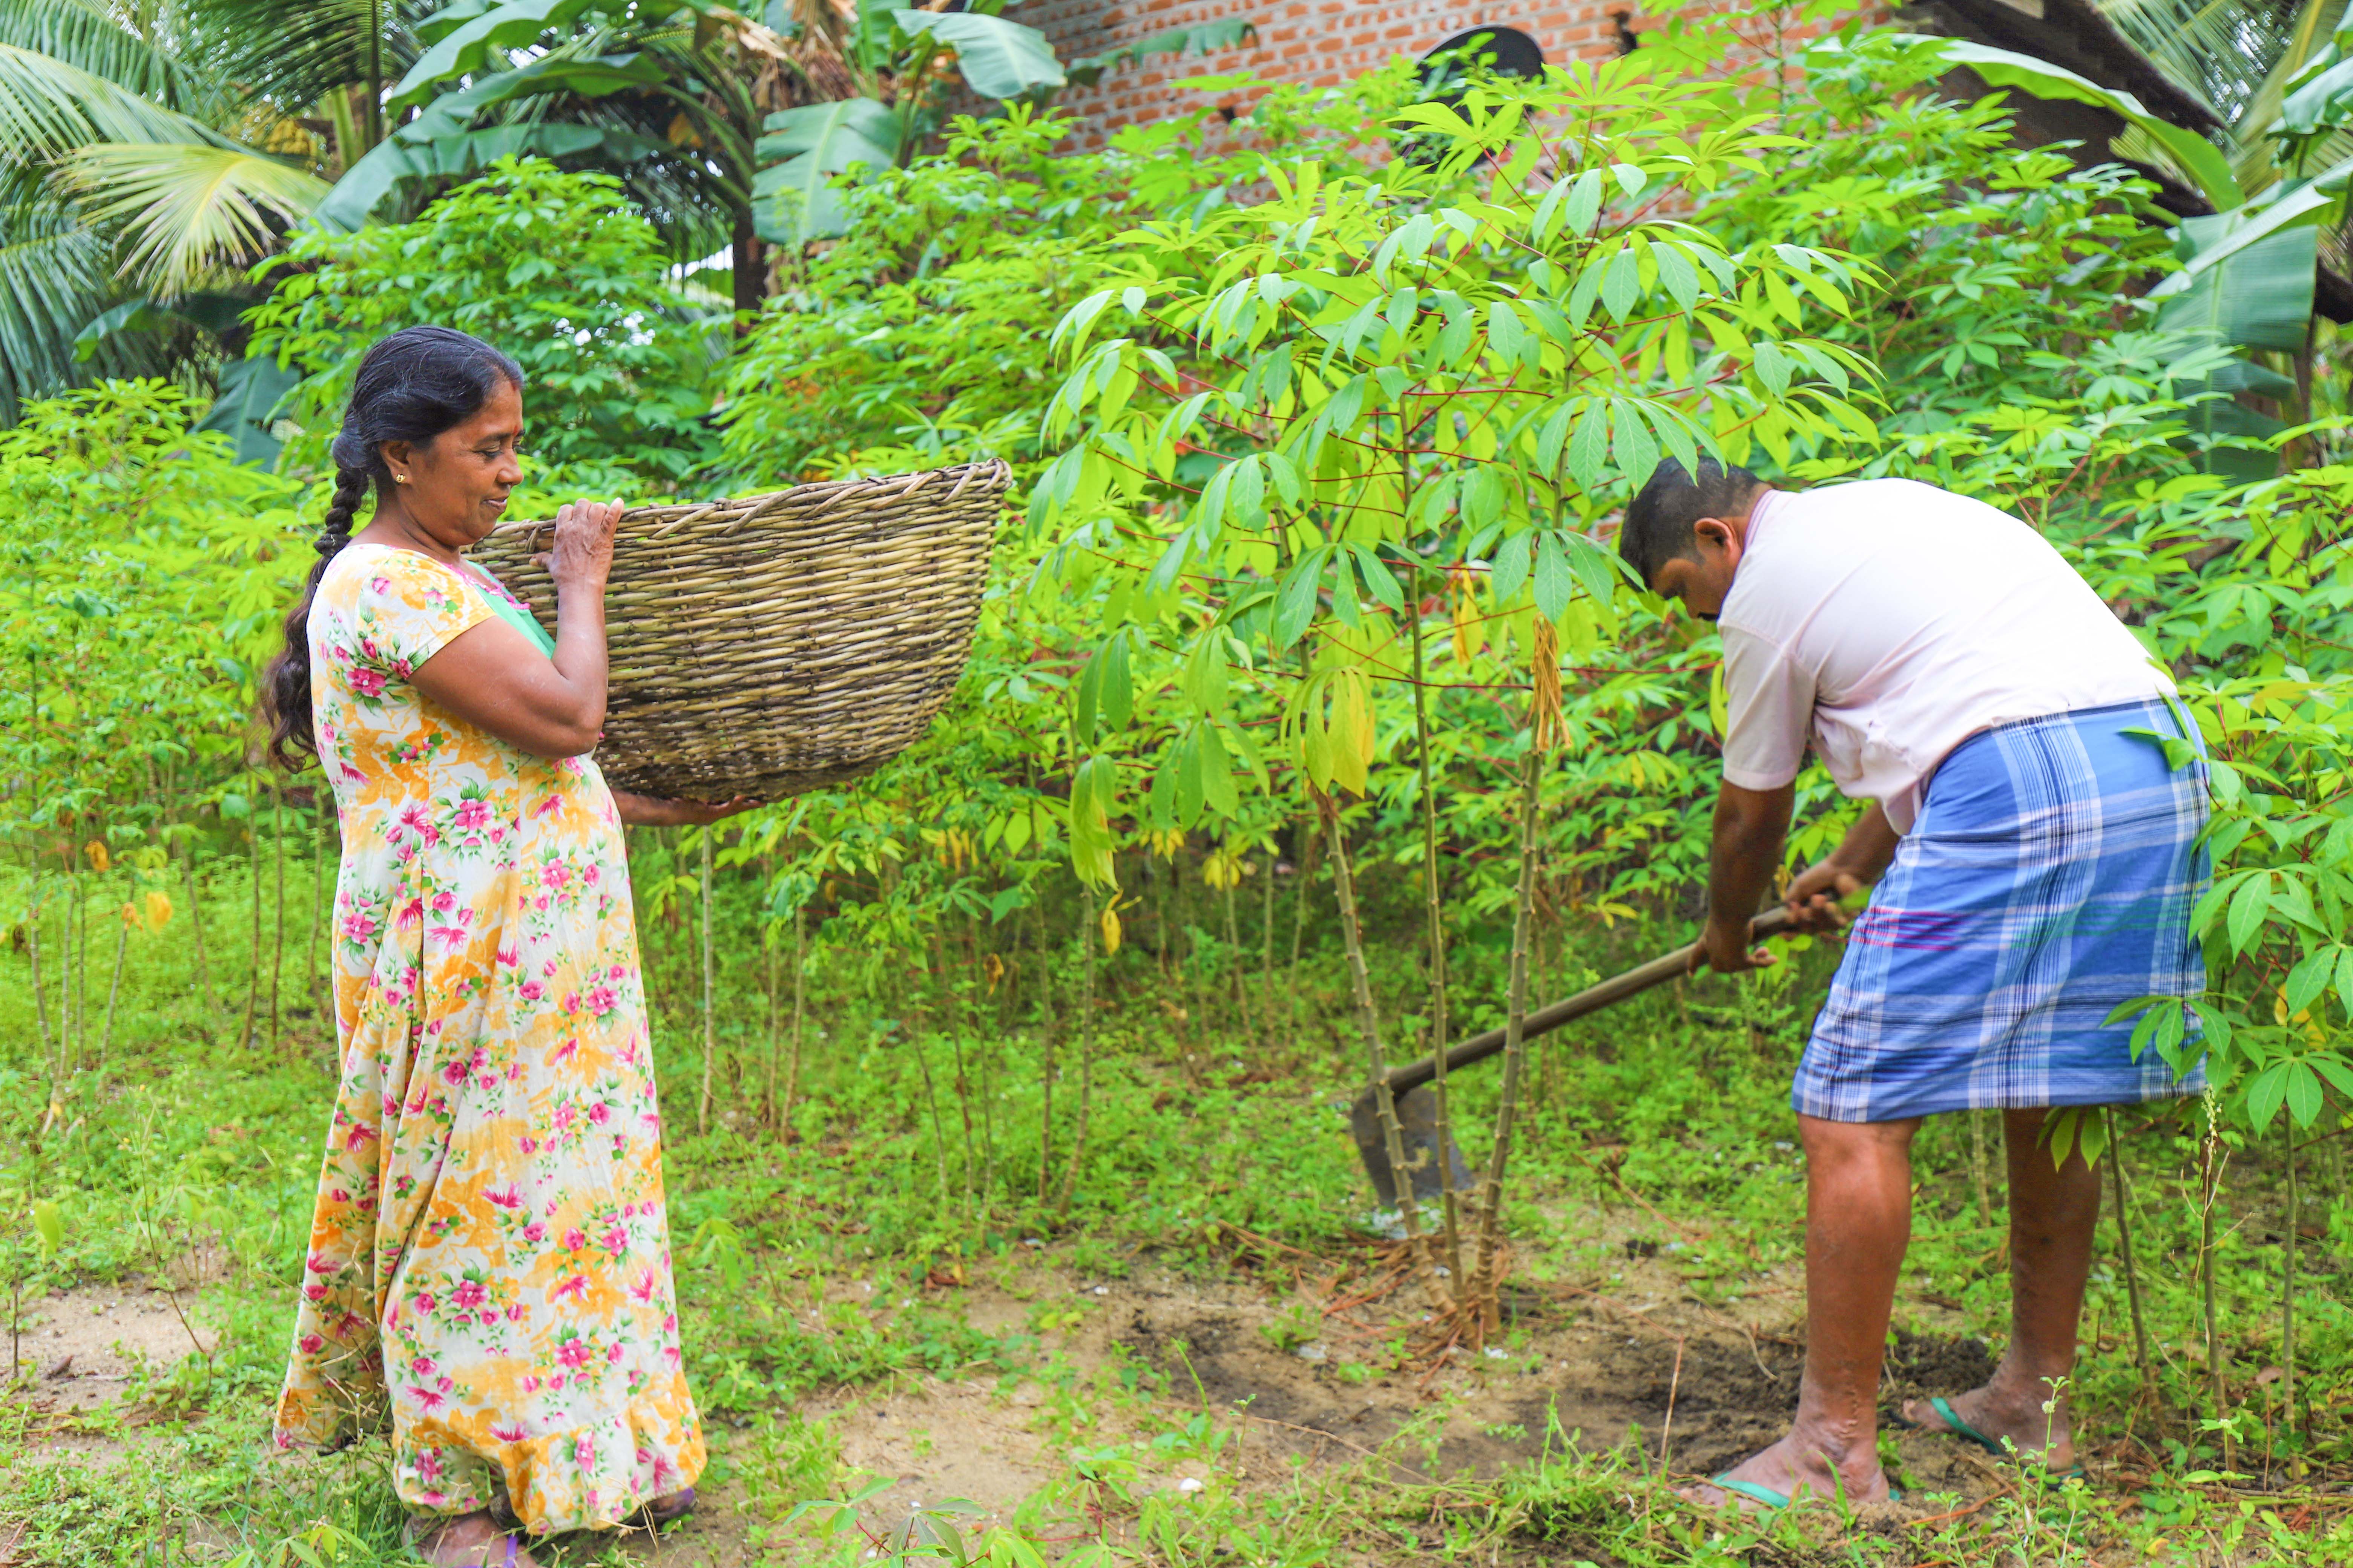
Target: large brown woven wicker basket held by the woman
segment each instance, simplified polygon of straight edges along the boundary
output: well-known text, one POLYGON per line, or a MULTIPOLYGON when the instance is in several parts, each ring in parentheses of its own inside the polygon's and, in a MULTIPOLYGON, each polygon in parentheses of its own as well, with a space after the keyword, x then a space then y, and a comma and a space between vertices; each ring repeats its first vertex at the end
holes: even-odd
MULTIPOLYGON (((1000 461, 624 512, 605 590, 619 790, 779 799, 868 773, 948 701, 981 611, 1012 470, 1000 461)), ((508 522, 473 559, 555 625, 508 522)))

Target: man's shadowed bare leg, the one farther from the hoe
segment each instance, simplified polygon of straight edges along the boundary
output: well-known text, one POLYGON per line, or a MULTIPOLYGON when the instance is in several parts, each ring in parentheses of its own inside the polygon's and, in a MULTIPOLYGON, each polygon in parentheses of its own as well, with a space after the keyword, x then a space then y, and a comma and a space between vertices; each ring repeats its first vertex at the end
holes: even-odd
MULTIPOLYGON (((2052 1166, 2040 1145, 2042 1110, 2002 1112, 2009 1145, 2009 1349, 1981 1389, 1948 1403, 1965 1422, 2021 1455, 2040 1455, 2052 1469, 2075 1465, 2075 1439, 2066 1422, 2066 1394, 2057 1408, 2054 1380, 2075 1371, 2075 1328, 2082 1321, 2082 1288, 2092 1274, 2092 1229, 2099 1222, 2099 1171, 2082 1152, 2052 1166)), ((1944 1418, 1925 1399, 1904 1406, 1904 1420, 1944 1429, 1944 1418)))

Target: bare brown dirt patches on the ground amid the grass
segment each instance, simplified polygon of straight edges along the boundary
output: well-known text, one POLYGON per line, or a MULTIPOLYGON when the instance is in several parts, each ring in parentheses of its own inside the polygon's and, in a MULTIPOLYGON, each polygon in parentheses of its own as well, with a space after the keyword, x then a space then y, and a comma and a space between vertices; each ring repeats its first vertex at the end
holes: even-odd
MULTIPOLYGON (((1365 1269, 1372 1274, 1374 1269, 1365 1269)), ((972 1326, 1005 1333, 1035 1324, 1040 1307, 1061 1324, 1040 1354, 1078 1373, 1148 1368, 1162 1387, 1139 1401, 1092 1406, 1085 1441, 1141 1434, 1151 1415, 1179 1420, 1212 1410, 1235 1429, 1219 1455, 1245 1488, 1285 1486, 1294 1467, 1374 1462, 1398 1479, 1461 1472, 1494 1474, 1537 1460, 1546 1443, 1612 1448, 1640 1434, 1652 1465, 1706 1476, 1779 1434, 1798 1387, 1802 1345, 1795 1298, 1762 1286, 1741 1314, 1680 1293, 1673 1274, 1628 1258, 1609 1295, 1572 1286, 1508 1293, 1506 1321, 1487 1352, 1457 1347, 1409 1371, 1379 1373, 1393 1298, 1346 1305, 1348 1284, 1308 1288, 1285 1302, 1249 1276, 1186 1279, 1139 1269, 1127 1279, 1082 1279, 1042 1265, 1019 1281, 974 1279, 929 1291, 960 1307, 972 1326), (1301 1307, 1301 1302, 1311 1302, 1301 1307), (1327 1307, 1318 1314, 1313 1305, 1327 1307), (1313 1338, 1301 1338, 1313 1326, 1313 1338), (1268 1333, 1273 1331, 1273 1333, 1268 1333), (1419 1429, 1407 1432, 1417 1425, 1419 1429), (1405 1441, 1395 1441, 1405 1432, 1405 1441)), ((1358 1276, 1353 1284, 1365 1284, 1358 1276)), ((1362 1291, 1358 1291, 1362 1295, 1362 1291)), ((202 1321, 193 1324, 198 1335, 202 1321)), ((169 1363, 188 1354, 191 1328, 162 1291, 92 1288, 42 1302, 24 1324, 24 1363, 38 1368, 33 1401, 71 1415, 118 1399, 134 1359, 169 1363)), ((1986 1347, 1939 1333, 1904 1335, 1889 1359, 1887 1399, 1955 1392, 1991 1371, 1986 1347)), ((864 1516, 889 1528, 920 1502, 965 1497, 991 1516, 1009 1514, 1059 1469, 1054 1389, 1038 1378, 899 1378, 802 1406, 840 1439, 842 1465, 892 1479, 864 1516)), ((1059 1420, 1068 1420, 1068 1401, 1059 1420)), ((713 1425, 713 1450, 741 1460, 746 1429, 713 1425)), ((132 1439, 59 1436, 56 1450, 111 1462, 132 1439)), ((1962 1446, 1906 1434, 1904 1465, 1915 1493, 1974 1500, 1998 1474, 1962 1446)), ((289 1460, 299 1462, 299 1460, 289 1460)), ((1146 1488, 1207 1476, 1202 1460, 1144 1476, 1146 1488)), ((736 1568, 758 1561, 753 1512, 741 1481, 704 1490, 704 1507, 661 1537, 628 1535, 631 1556, 678 1568, 736 1568)), ((0 1542, 5 1547, 5 1542, 0 1542)), ((609 1540, 574 1540, 555 1561, 602 1556, 609 1540)))

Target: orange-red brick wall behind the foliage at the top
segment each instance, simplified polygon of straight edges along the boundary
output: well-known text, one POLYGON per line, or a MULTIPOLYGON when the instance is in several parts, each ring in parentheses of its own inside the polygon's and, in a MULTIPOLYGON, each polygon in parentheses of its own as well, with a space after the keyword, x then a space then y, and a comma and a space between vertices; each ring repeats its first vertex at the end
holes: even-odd
MULTIPOLYGON (((1885 9, 1873 5, 1885 16, 1885 9)), ((1257 38, 1214 54, 1155 54, 1073 87, 1061 103, 1087 129, 1064 143, 1099 146, 1122 125, 1144 125, 1200 108, 1202 96, 1174 82, 1193 75, 1249 71, 1266 82, 1339 87, 1395 56, 1428 49, 1478 26, 1520 28, 1544 47, 1548 63, 1602 59, 1619 52, 1624 14, 1635 33, 1647 19, 1633 0, 1537 0, 1529 5, 1461 5, 1457 0, 1028 0, 1014 19, 1042 31, 1061 59, 1108 54, 1169 28, 1198 28, 1231 16, 1257 24, 1257 38)), ((1819 28, 1807 28, 1807 33, 1819 28)))

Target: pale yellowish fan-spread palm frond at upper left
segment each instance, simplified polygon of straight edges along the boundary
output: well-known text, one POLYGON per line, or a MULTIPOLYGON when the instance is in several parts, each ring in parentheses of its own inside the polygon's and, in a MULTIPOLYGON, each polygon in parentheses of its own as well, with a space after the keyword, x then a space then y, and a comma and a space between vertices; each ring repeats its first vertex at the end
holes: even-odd
POLYGON ((122 273, 153 294, 259 261, 327 195, 322 179, 275 158, 188 143, 92 143, 59 162, 59 179, 92 221, 120 226, 122 273))

